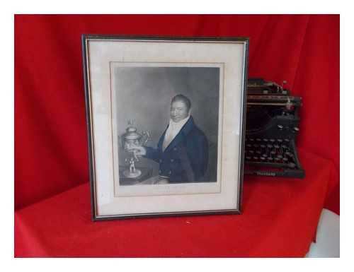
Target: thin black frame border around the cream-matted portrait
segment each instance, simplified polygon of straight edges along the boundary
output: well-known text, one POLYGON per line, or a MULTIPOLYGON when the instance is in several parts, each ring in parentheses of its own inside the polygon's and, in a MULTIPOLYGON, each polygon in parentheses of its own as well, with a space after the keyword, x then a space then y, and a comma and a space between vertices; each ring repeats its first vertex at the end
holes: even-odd
POLYGON ((249 38, 247 37, 160 37, 160 36, 120 36, 120 35, 82 35, 82 58, 84 71, 84 88, 86 99, 86 124, 87 124, 87 139, 88 139, 88 154, 89 154, 89 177, 91 188, 91 219, 96 220, 112 220, 126 218, 147 218, 158 216, 180 216, 180 215, 215 215, 215 214, 240 214, 242 210, 242 189, 243 189, 243 171, 244 171, 244 138, 246 131, 246 83, 248 71, 248 54, 249 54, 249 38), (167 211, 167 212, 149 212, 149 213, 122 213, 99 215, 98 203, 96 195, 96 164, 95 164, 95 139, 93 135, 93 110, 91 100, 91 82, 90 82, 90 66, 89 66, 89 42, 90 41, 137 41, 137 42, 230 42, 241 43, 244 50, 243 63, 241 64, 242 83, 241 83, 241 131, 239 143, 239 180, 236 191, 237 205, 235 208, 217 209, 217 210, 202 210, 202 211, 167 211))

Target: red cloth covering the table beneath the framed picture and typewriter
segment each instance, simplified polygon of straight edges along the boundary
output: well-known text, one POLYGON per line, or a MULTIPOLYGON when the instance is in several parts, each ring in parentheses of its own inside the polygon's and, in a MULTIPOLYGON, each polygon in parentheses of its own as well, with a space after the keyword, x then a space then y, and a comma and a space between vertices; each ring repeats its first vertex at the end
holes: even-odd
POLYGON ((305 179, 246 177, 242 215, 91 222, 89 184, 79 185, 15 212, 16 256, 304 256, 335 167, 300 158, 305 179))

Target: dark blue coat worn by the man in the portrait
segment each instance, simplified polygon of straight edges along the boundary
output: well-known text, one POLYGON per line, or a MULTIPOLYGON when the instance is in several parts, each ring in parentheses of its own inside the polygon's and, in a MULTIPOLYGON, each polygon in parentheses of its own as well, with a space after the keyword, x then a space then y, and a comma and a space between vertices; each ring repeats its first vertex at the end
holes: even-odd
POLYGON ((195 126, 193 118, 162 151, 167 129, 159 139, 157 148, 147 148, 146 158, 159 162, 159 175, 169 177, 169 182, 202 182, 208 164, 208 143, 205 134, 195 126))

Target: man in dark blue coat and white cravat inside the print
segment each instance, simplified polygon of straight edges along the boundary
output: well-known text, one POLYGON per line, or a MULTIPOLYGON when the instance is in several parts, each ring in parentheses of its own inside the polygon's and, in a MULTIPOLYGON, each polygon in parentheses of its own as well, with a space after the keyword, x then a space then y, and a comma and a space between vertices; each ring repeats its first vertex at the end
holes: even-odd
POLYGON ((171 100, 170 120, 157 148, 135 146, 133 152, 159 163, 159 184, 203 182, 209 158, 207 137, 191 116, 192 104, 185 95, 171 100))

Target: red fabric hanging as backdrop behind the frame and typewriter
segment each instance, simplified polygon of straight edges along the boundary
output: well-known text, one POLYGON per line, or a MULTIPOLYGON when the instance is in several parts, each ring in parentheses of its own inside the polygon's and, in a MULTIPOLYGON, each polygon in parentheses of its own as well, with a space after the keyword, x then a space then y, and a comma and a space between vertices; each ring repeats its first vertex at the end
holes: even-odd
POLYGON ((89 182, 81 34, 250 37, 249 76, 304 106, 298 145, 336 167, 339 213, 339 16, 15 16, 15 208, 89 182))

